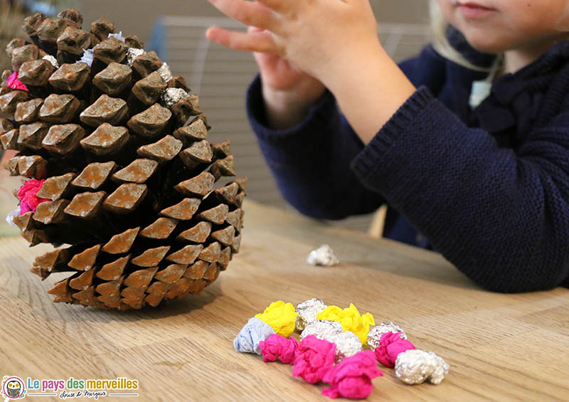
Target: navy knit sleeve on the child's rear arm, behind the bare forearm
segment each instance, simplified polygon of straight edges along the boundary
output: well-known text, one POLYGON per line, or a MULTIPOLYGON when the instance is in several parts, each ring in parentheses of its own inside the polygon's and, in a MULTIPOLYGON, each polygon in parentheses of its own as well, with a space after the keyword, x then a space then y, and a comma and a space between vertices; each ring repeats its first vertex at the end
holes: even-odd
MULTIPOLYGON (((418 57, 400 63, 400 68, 413 84, 427 85, 433 92, 445 80, 440 73, 445 61, 430 46, 418 57)), ((350 169, 363 143, 339 112, 331 92, 326 90, 295 127, 272 130, 266 125, 257 75, 247 92, 247 112, 277 186, 297 211, 313 218, 341 219, 381 206, 383 198, 363 186, 350 169)))

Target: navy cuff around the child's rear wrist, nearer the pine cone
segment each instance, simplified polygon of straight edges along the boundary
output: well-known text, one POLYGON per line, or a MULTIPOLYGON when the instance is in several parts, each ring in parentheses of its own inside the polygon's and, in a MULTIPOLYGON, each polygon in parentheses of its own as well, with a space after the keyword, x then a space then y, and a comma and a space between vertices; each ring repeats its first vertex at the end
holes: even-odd
POLYGON ((289 129, 271 129, 267 127, 265 100, 262 97, 261 78, 257 74, 247 90, 247 115, 257 137, 265 141, 279 142, 292 137, 305 137, 309 132, 323 132, 322 126, 329 124, 329 119, 336 108, 334 95, 326 89, 324 95, 313 105, 304 119, 289 129))

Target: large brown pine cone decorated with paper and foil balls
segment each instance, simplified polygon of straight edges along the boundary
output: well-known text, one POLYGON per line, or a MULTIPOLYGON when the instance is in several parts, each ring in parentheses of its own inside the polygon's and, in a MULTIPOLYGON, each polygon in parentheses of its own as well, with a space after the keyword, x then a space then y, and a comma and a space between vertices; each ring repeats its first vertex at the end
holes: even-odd
POLYGON ((0 148, 19 151, 11 175, 46 179, 37 196, 50 200, 14 222, 31 245, 56 247, 31 272, 71 273, 54 302, 101 308, 199 293, 239 251, 247 179, 216 185, 235 176, 230 142, 208 142, 184 78, 136 36, 110 36, 110 21, 82 23, 72 9, 36 14, 23 25, 32 43, 6 48, 28 91, 2 74, 0 148))

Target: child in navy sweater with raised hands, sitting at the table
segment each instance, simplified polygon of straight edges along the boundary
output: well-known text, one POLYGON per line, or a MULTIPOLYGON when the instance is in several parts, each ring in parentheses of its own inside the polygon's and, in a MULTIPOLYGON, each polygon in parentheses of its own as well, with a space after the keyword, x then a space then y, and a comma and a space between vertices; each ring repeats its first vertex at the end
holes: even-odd
POLYGON ((209 1, 255 27, 207 36, 257 52, 250 122, 299 211, 386 202, 384 236, 488 290, 569 287, 568 1, 438 0, 447 58, 427 46, 400 65, 368 0, 209 1))

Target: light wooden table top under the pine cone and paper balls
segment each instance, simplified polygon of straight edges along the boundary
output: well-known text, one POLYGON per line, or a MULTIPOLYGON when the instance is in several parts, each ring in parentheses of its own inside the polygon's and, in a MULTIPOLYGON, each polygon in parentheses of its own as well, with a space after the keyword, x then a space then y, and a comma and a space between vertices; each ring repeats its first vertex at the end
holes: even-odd
POLYGON ((569 290, 484 292, 436 253, 251 201, 245 211, 241 252, 211 287, 142 311, 53 304, 46 290, 57 278, 41 282, 28 272, 48 248, 0 239, 0 374, 128 377, 139 380, 139 397, 126 398, 136 401, 326 401, 321 385, 292 379, 292 366, 263 363, 232 344, 270 302, 320 297, 397 322, 418 349, 450 364, 439 386, 407 386, 385 369, 370 401, 569 399, 569 290), (340 265, 307 265, 321 243, 340 265))

